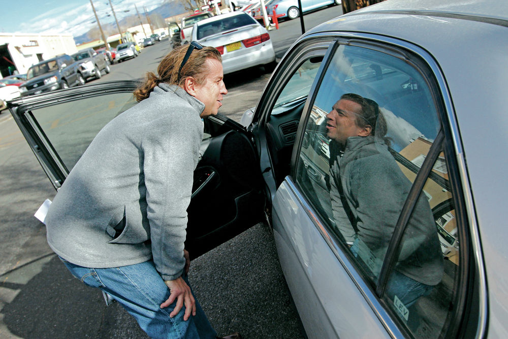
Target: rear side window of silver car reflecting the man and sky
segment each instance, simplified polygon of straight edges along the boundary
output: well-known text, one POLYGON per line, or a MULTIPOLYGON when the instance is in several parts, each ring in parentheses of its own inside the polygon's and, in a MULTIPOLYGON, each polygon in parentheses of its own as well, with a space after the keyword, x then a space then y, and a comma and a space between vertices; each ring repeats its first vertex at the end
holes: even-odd
POLYGON ((433 82, 414 65, 339 45, 316 88, 296 181, 395 322, 435 337, 453 312, 459 231, 433 82))

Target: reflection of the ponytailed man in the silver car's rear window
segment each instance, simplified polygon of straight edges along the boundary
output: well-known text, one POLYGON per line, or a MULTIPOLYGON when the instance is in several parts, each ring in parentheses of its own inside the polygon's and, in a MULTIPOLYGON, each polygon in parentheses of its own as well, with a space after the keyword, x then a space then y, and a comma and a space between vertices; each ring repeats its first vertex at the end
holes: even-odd
MULTIPOLYGON (((411 182, 397 166, 377 104, 345 94, 327 115, 330 186, 338 230, 377 278, 411 182)), ((428 295, 443 274, 432 211, 422 194, 409 220, 387 286, 406 307, 428 295)))

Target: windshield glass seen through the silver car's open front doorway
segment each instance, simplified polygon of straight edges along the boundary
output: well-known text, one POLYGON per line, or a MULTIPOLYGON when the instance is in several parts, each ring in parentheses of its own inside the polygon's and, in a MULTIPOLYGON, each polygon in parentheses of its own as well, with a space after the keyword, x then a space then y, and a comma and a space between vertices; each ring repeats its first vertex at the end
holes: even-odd
POLYGON ((322 60, 322 57, 311 57, 298 67, 278 95, 272 109, 272 114, 280 114, 285 111, 285 107, 307 99, 310 87, 314 82, 322 60))

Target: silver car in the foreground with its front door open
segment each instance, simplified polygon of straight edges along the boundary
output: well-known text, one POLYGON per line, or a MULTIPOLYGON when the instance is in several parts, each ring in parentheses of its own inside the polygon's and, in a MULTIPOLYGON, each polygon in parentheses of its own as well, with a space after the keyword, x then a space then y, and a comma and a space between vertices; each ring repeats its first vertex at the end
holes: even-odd
MULTIPOLYGON (((245 112, 247 128, 220 114, 204 120, 203 156, 188 208, 190 255, 214 248, 268 211, 309 338, 505 337, 507 23, 505 2, 390 0, 310 29, 285 53, 256 108, 245 112), (471 44, 481 52, 472 53, 471 44), (383 192, 398 180, 362 184, 382 164, 357 167, 356 179, 344 182, 355 187, 345 187, 344 197, 353 203, 358 196, 351 192, 378 194, 363 195, 372 208, 355 215, 331 205, 330 163, 343 160, 340 152, 316 152, 312 138, 305 138, 328 135, 321 122, 347 93, 377 103, 378 110, 372 102, 368 107, 386 120, 390 148, 379 135, 383 126, 367 121, 378 131, 371 139, 379 148, 366 155, 389 150, 384 154, 396 162, 394 177, 410 184, 408 192, 389 198, 383 192), (422 197, 443 260, 440 267, 427 267, 437 284, 406 305, 402 295, 387 291, 400 266, 426 267, 416 258, 406 261, 407 253, 428 241, 410 227, 422 197), (397 207, 384 208, 387 200, 397 200, 397 207), (345 241, 344 227, 354 221, 361 228, 379 214, 397 220, 375 225, 389 240, 381 251, 345 241)), ((136 104, 136 86, 96 84, 9 104, 55 188, 118 108, 136 104), (62 117, 67 124, 51 126, 62 117)), ((350 139, 356 138, 362 137, 350 139)), ((412 280, 425 278, 416 274, 412 280)))

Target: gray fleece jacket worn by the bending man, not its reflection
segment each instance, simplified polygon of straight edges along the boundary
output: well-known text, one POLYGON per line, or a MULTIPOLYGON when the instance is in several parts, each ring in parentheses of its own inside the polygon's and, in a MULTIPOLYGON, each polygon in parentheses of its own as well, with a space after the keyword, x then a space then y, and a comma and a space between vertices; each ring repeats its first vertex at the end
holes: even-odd
POLYGON ((153 258, 164 280, 183 272, 204 104, 175 85, 109 122, 56 194, 45 224, 51 249, 84 267, 153 258))

